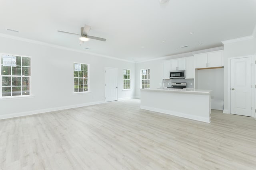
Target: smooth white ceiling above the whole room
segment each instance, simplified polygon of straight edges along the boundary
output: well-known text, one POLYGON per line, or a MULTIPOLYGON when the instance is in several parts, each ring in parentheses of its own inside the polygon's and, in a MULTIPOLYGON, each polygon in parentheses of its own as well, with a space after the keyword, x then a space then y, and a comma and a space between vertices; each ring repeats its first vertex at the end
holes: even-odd
POLYGON ((220 47, 221 41, 252 35, 256 25, 256 0, 0 0, 0 5, 0 33, 130 61, 220 47), (91 39, 80 46, 78 35, 57 32, 79 34, 84 24, 91 26, 89 35, 106 42, 91 39))

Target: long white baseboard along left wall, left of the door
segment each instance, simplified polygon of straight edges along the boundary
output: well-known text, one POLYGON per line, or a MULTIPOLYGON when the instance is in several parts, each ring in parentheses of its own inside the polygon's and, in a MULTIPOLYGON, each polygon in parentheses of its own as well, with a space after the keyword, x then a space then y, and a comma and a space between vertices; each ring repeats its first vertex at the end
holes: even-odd
POLYGON ((13 118, 13 117, 35 115, 35 114, 46 113, 46 112, 50 112, 50 111, 58 111, 58 110, 64 110, 64 109, 72 109, 72 108, 76 108, 76 107, 91 106, 91 105, 102 104, 102 103, 105 103, 105 102, 104 101, 89 102, 89 103, 84 103, 84 104, 53 107, 53 108, 49 108, 49 109, 40 109, 40 110, 33 110, 33 111, 24 111, 24 112, 20 112, 20 113, 5 114, 5 115, 0 115, 0 120, 1 119, 9 119, 9 118, 13 118))

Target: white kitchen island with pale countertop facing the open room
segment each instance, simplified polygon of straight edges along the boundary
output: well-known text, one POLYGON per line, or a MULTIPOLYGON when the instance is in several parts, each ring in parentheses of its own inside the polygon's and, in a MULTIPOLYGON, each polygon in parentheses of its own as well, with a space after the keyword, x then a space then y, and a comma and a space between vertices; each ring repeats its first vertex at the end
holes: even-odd
POLYGON ((198 89, 141 89, 140 108, 210 123, 211 92, 198 89))

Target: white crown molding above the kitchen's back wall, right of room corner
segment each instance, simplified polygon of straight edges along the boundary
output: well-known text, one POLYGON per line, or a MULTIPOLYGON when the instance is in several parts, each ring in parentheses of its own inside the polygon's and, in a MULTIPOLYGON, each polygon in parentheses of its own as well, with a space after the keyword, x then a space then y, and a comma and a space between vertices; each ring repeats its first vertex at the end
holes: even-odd
POLYGON ((195 55, 195 54, 208 53, 208 52, 218 51, 218 50, 223 50, 223 49, 224 49, 224 47, 221 46, 221 47, 215 47, 215 48, 210 48, 210 49, 192 51, 192 52, 188 52, 188 53, 181 53, 181 54, 169 55, 169 56, 165 56, 165 57, 158 57, 158 58, 154 58, 154 59, 138 61, 136 63, 144 63, 144 62, 155 61, 155 60, 168 60, 168 59, 177 59, 177 58, 182 58, 182 57, 190 57, 190 56, 195 55))

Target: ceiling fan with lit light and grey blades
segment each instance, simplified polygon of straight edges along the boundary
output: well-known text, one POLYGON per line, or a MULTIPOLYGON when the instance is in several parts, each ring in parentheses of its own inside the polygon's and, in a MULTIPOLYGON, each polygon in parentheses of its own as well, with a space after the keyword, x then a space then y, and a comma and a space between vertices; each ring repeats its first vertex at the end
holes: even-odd
POLYGON ((91 27, 89 25, 84 25, 84 27, 81 27, 81 33, 80 34, 70 33, 70 32, 60 31, 60 30, 58 30, 58 32, 80 35, 80 38, 79 38, 80 39, 80 44, 83 43, 84 41, 89 41, 89 39, 96 39, 96 40, 100 40, 100 41, 106 41, 105 38, 94 37, 94 36, 88 35, 90 29, 91 29, 91 27))

